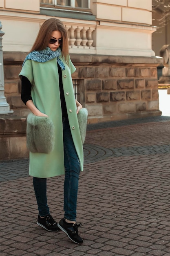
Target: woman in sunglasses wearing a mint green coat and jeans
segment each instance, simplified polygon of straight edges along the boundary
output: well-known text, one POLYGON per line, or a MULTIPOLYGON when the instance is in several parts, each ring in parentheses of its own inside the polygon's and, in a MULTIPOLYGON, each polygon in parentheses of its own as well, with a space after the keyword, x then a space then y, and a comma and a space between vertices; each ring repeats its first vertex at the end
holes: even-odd
POLYGON ((35 116, 49 117, 55 128, 50 153, 30 152, 29 174, 38 204, 37 224, 48 231, 62 229, 74 243, 82 243, 76 223, 79 173, 83 171, 83 146, 77 114, 82 105, 75 100, 71 74, 75 67, 68 55, 68 35, 63 23, 46 20, 19 74, 21 98, 35 116), (46 178, 65 174, 64 218, 57 224, 46 197, 46 178))

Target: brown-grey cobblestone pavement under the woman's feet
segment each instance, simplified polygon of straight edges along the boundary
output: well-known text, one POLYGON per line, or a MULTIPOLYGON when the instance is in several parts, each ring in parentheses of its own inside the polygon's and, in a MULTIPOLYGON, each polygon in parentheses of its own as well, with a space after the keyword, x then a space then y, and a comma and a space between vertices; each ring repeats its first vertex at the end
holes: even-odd
MULTIPOLYGON (((82 245, 36 224, 28 159, 0 162, 0 256, 170 256, 170 117, 88 125, 84 155, 82 245)), ((63 182, 48 179, 56 221, 63 217, 63 182)))

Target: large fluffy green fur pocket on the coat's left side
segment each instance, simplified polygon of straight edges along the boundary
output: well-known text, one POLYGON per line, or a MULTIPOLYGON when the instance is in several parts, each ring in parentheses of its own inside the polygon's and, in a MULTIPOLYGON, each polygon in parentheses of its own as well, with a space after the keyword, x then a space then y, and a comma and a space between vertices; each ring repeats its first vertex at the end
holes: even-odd
POLYGON ((27 117, 26 146, 35 153, 50 153, 54 146, 54 125, 49 117, 30 113, 27 117))

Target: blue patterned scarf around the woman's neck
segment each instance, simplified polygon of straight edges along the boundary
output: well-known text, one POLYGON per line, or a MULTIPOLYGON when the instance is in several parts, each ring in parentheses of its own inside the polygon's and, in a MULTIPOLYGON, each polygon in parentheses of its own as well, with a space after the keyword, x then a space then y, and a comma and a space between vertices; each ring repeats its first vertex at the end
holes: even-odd
POLYGON ((46 62, 46 61, 52 60, 53 58, 57 58, 57 63, 60 65, 62 70, 65 70, 64 63, 59 58, 59 56, 61 54, 62 54, 62 51, 61 51, 60 47, 57 48, 56 51, 52 51, 49 47, 46 47, 46 49, 44 49, 42 51, 32 51, 26 56, 26 58, 22 64, 22 67, 26 60, 33 60, 33 61, 37 61, 37 62, 46 62))

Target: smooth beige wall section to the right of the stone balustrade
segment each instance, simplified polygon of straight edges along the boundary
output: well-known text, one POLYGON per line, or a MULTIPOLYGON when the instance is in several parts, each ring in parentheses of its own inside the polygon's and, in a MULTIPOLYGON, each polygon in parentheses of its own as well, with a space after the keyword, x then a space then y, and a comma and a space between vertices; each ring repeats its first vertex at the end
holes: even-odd
POLYGON ((96 54, 155 56, 152 51, 152 0, 91 0, 99 24, 96 54))

